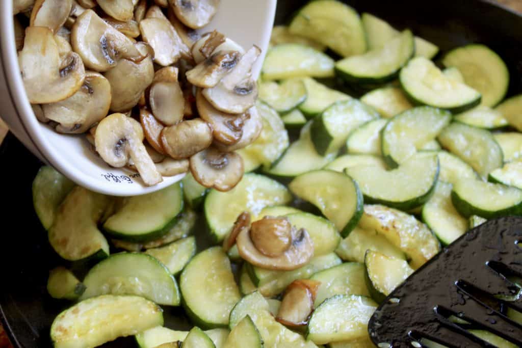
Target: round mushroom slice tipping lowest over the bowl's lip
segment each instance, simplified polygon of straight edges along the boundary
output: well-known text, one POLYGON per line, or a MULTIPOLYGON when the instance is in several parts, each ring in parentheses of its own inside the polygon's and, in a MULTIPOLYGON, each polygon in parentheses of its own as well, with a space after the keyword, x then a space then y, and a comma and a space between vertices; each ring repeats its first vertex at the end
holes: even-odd
POLYGON ((244 167, 241 155, 235 152, 221 152, 210 147, 196 153, 190 160, 191 173, 196 181, 218 191, 230 191, 243 177, 244 167))

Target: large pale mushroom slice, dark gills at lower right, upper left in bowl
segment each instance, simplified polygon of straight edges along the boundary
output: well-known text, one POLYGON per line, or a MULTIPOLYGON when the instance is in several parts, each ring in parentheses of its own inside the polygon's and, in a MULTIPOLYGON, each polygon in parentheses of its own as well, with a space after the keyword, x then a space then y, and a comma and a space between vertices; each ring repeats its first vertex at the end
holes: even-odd
POLYGON ((112 69, 121 58, 139 63, 148 56, 141 54, 131 39, 105 23, 93 10, 86 10, 76 20, 71 44, 85 65, 98 72, 112 69))

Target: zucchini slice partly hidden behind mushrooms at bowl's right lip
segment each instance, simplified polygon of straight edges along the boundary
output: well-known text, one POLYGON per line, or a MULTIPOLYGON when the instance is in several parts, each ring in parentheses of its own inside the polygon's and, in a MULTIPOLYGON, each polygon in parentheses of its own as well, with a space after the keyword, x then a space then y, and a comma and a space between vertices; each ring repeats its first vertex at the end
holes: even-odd
POLYGON ((290 140, 279 114, 264 103, 257 103, 257 111, 263 122, 259 137, 244 149, 238 150, 245 163, 245 172, 263 165, 268 169, 288 148, 290 140), (248 165, 248 163, 253 163, 248 165))

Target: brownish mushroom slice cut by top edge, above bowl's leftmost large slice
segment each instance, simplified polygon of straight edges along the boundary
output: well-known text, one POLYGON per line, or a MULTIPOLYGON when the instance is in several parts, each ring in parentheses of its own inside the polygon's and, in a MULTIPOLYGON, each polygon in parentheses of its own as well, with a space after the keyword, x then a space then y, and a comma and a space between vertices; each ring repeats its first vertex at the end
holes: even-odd
POLYGON ((73 0, 36 0, 31 11, 31 27, 48 27, 57 32, 69 17, 73 0))

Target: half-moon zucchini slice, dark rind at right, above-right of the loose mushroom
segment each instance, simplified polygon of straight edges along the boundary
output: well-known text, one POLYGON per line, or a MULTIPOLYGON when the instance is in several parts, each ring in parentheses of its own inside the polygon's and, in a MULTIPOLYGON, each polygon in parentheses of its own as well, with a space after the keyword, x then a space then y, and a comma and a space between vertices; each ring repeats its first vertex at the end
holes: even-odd
POLYGON ((361 218, 361 191, 345 174, 329 170, 309 172, 293 179, 288 188, 319 208, 343 236, 348 235, 361 218))

